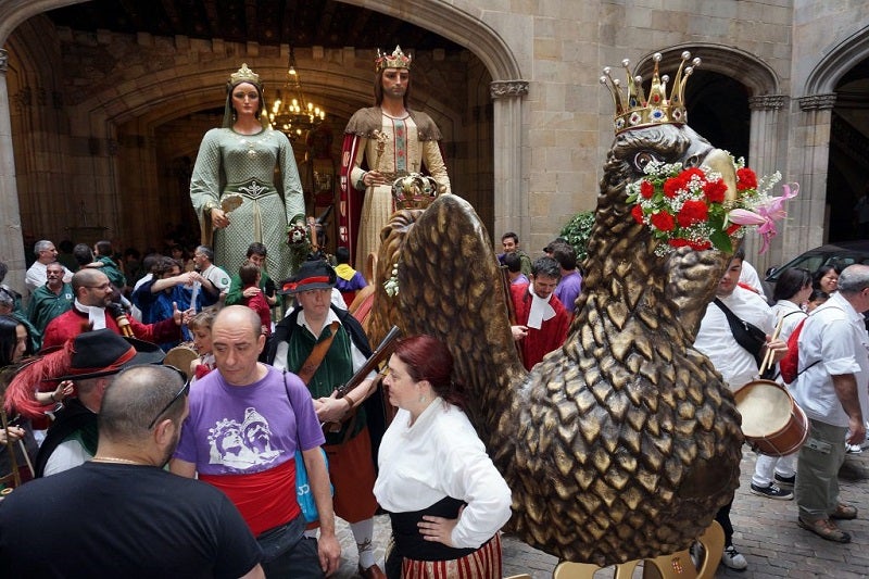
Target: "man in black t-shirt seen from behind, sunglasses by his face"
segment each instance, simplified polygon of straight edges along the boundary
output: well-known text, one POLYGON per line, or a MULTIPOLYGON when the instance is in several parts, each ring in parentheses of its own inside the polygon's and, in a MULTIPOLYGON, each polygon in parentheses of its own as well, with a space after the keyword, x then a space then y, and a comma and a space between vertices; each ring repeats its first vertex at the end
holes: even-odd
POLYGON ((0 502, 8 577, 262 578, 262 552, 221 491, 163 470, 189 382, 134 366, 103 397, 97 454, 0 502))

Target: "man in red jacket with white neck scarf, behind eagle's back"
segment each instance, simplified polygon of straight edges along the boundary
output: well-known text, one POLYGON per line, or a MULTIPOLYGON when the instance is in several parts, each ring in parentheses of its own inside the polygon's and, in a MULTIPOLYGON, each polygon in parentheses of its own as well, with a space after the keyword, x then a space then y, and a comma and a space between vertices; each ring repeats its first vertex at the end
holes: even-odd
POLYGON ((531 282, 511 285, 516 326, 513 339, 519 342, 522 364, 531 369, 543 356, 567 338, 570 314, 553 294, 562 268, 552 257, 540 257, 531 265, 531 282))

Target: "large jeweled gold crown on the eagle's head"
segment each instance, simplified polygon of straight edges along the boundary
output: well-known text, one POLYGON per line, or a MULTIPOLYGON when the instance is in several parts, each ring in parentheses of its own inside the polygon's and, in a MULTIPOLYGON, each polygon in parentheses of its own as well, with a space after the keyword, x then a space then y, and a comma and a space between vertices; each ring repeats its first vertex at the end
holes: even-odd
POLYGON ((608 66, 604 68, 601 84, 609 89, 616 104, 616 115, 613 121, 616 135, 631 128, 663 124, 682 125, 688 122, 684 103, 685 84, 694 68, 700 66, 700 59, 692 61, 690 52, 682 52, 682 62, 673 77, 669 99, 667 98, 667 83, 670 78, 667 75, 658 75, 660 52, 653 54, 652 60, 655 62, 655 68, 652 73, 648 98, 643 92, 643 78, 639 75, 631 76, 629 60, 621 61, 621 65, 628 73, 627 91, 622 91, 621 83, 610 76, 610 68, 608 66), (689 61, 691 66, 685 66, 689 61))

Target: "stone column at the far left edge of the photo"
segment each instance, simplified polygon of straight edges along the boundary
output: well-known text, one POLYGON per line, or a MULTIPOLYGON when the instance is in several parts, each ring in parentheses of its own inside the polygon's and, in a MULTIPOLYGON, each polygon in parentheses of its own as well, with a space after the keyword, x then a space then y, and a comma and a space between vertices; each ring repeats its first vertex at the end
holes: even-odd
POLYGON ((24 247, 21 231, 15 156, 12 153, 12 121, 9 112, 9 52, 0 48, 0 261, 9 266, 3 284, 24 291, 24 247))

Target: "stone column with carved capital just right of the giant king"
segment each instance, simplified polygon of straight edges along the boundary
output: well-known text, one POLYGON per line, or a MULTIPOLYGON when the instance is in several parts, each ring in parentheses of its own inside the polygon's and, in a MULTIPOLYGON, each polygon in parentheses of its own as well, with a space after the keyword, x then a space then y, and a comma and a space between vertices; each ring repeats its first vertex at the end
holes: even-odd
POLYGON ((501 235, 516 230, 520 243, 531 236, 527 184, 522 178, 522 97, 527 80, 495 80, 489 86, 494 101, 494 231, 495 249, 501 235), (519 224, 519 227, 516 227, 519 224))

